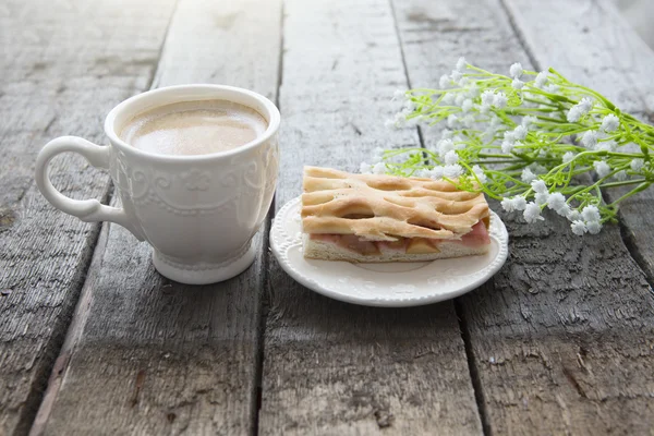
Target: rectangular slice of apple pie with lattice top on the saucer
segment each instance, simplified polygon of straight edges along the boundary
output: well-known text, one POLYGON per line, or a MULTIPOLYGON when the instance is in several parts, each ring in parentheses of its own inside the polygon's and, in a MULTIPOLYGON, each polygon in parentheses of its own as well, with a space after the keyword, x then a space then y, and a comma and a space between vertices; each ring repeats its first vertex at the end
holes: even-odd
POLYGON ((304 256, 325 261, 416 262, 488 251, 483 193, 421 178, 304 168, 304 256))

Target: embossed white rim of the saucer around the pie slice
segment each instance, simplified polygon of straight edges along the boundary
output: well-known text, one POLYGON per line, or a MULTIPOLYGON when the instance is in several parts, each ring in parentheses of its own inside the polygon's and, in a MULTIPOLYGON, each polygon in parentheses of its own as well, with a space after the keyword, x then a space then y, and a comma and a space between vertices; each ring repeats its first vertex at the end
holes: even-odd
MULTIPOLYGON (((375 295, 374 291, 371 291, 370 296, 362 296, 361 294, 355 294, 354 292, 340 292, 335 289, 334 286, 329 286, 329 283, 319 283, 315 280, 315 278, 311 277, 312 269, 315 269, 315 266, 311 266, 308 263, 303 265, 302 257, 300 261, 292 261, 289 258, 289 251, 293 247, 302 246, 302 241, 299 235, 289 235, 287 231, 283 229, 284 222, 291 218, 291 213, 293 208, 300 207, 301 196, 294 197, 287 202, 276 214, 272 226, 270 227, 270 249, 272 254, 277 258, 277 262, 281 266, 281 268, 291 276, 295 281, 305 288, 311 289, 314 292, 317 292, 322 295, 328 296, 334 300, 339 300, 347 303, 360 304, 366 306, 376 306, 376 307, 411 307, 411 306, 420 306, 426 304, 438 303, 446 300, 451 300, 457 296, 460 296, 464 293, 468 293, 483 283, 485 283, 489 278, 492 278, 506 263, 508 258, 508 232, 507 229, 501 221, 501 219, 495 214, 493 210, 491 211, 491 231, 489 235, 492 239, 492 243, 497 245, 495 256, 488 261, 488 264, 483 268, 473 270, 472 274, 480 275, 474 279, 469 280, 461 286, 450 286, 451 289, 448 289, 443 292, 432 292, 427 294, 414 295, 414 296, 405 296, 405 298, 389 298, 389 296, 379 296, 375 295), (286 240, 283 240, 286 239, 286 240), (482 271, 484 274, 482 274, 482 271)), ((299 216, 299 215, 298 215, 299 216)), ((298 226, 300 226, 298 220, 298 226)), ((301 228, 301 227, 300 227, 301 228)), ((425 262, 424 266, 433 266, 432 264, 438 263, 436 265, 443 265, 444 262, 465 262, 469 259, 469 263, 479 261, 479 256, 470 256, 470 257, 457 257, 453 259, 436 259, 431 262, 425 262)), ((358 268, 358 264, 351 264, 348 262, 331 262, 331 261, 316 261, 312 259, 312 264, 320 264, 327 263, 326 265, 335 265, 342 264, 343 268, 354 270, 364 270, 364 268, 358 268)), ((412 265, 419 263, 411 263, 412 265)), ((422 269, 422 267, 420 268, 422 269)), ((412 271, 407 271, 412 272, 412 271)), ((391 274, 391 272, 389 272, 391 274)), ((402 274, 402 272, 399 272, 402 274)), ((365 272, 361 272, 360 276, 366 275, 365 272)), ((314 275, 315 276, 315 275, 314 275)), ((319 276, 319 275, 317 275, 319 276)), ((459 276, 461 277, 461 276, 459 276)), ((447 277, 446 277, 447 279, 447 277)), ((412 286, 408 283, 408 286, 412 286)))

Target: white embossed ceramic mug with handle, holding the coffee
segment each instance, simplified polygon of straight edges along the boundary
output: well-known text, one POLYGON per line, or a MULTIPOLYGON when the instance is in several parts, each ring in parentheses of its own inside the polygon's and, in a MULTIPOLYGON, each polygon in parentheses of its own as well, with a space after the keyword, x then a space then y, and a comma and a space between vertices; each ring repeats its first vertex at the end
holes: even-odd
POLYGON ((181 85, 149 90, 118 105, 105 121, 110 145, 76 136, 49 142, 36 162, 36 183, 57 208, 83 221, 111 221, 153 247, 155 267, 183 283, 227 280, 255 257, 252 237, 262 226, 275 193, 279 165, 279 110, 247 89, 181 85), (219 99, 247 106, 268 128, 238 148, 197 156, 158 155, 132 147, 117 134, 134 116, 164 105, 219 99), (109 169, 122 207, 97 199, 72 199, 52 186, 50 160, 78 153, 94 167, 109 169))

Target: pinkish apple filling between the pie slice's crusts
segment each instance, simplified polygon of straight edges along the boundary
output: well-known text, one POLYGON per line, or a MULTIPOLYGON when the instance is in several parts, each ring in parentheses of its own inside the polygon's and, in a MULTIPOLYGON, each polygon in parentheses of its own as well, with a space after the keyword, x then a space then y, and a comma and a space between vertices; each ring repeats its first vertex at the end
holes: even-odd
POLYGON ((366 241, 355 234, 311 233, 315 241, 328 242, 362 255, 378 255, 384 253, 432 254, 439 253, 441 242, 451 242, 476 249, 491 243, 488 229, 483 220, 472 227, 472 230, 461 239, 428 239, 428 238, 401 238, 397 241, 366 241))

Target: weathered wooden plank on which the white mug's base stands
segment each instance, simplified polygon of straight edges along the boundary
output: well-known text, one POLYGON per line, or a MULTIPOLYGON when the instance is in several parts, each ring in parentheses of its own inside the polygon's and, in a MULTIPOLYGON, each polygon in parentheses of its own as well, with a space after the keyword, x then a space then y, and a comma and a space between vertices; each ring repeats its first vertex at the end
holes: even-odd
MULTIPOLYGON (((181 0, 156 84, 218 82, 275 98, 280 23, 279 1, 181 0)), ((159 276, 147 244, 106 228, 33 433, 252 433, 267 229, 246 272, 191 287, 159 276)))

